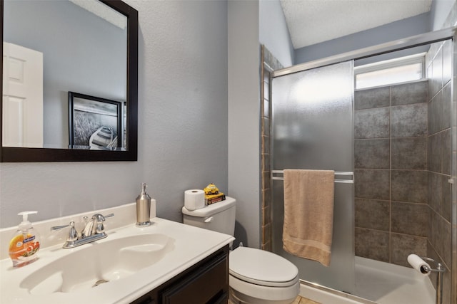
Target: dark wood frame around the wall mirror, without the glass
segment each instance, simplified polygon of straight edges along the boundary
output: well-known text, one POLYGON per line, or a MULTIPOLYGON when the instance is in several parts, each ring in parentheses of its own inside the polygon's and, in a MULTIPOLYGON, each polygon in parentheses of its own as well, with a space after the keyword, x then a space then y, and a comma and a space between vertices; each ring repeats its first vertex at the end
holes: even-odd
MULTIPOLYGON (((99 0, 127 17, 127 150, 72 150, 26 147, 3 147, 0 151, 0 162, 109 162, 136 161, 138 159, 138 11, 120 0, 99 0)), ((1 31, 3 41, 4 0, 0 0, 1 31)), ((3 58, 3 47, 0 48, 3 58)), ((3 75, 3 60, 0 61, 3 75)), ((3 81, 0 83, 3 92, 3 81)), ((3 98, 2 98, 3 102, 3 98)), ((2 110, 0 106, 0 130, 2 127, 2 110)), ((0 143, 3 142, 0 131, 0 143)))

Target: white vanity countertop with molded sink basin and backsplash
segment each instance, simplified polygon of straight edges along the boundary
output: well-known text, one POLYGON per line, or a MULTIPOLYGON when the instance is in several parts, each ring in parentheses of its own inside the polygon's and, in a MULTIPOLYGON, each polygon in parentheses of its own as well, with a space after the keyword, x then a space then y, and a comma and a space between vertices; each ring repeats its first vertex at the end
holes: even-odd
MULTIPOLYGON (((131 303, 233 241, 232 236, 154 217, 137 227, 136 204, 34 223, 42 247, 34 263, 13 267, 0 251, 0 303, 131 303), (51 231, 94 213, 111 214, 105 239, 64 249, 68 231, 51 231), (96 283, 100 280, 108 283, 96 283)), ((0 248, 17 227, 0 229, 0 248)))

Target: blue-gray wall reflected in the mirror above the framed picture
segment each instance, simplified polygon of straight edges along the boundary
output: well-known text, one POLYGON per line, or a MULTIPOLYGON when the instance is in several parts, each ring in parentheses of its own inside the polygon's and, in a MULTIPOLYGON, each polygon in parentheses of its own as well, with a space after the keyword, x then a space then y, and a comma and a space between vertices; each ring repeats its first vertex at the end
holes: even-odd
POLYGON ((4 4, 4 41, 44 54, 44 145, 66 148, 68 91, 126 100, 126 30, 70 1, 4 4))

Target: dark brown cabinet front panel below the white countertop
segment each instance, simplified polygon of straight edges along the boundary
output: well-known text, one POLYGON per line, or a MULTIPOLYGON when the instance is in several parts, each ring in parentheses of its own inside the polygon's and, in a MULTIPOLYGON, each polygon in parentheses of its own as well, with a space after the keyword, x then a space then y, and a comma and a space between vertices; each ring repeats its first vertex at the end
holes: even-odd
POLYGON ((229 285, 229 259, 216 256, 196 271, 174 283, 161 294, 164 304, 226 303, 229 285))

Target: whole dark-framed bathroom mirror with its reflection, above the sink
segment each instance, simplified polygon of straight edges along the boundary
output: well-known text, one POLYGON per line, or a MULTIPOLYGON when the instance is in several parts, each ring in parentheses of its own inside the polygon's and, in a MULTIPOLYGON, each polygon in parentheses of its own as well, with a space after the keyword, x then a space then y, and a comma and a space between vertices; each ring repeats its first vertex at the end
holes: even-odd
POLYGON ((0 0, 0 10, 0 161, 136 160, 138 11, 120 0, 0 0), (91 106, 74 108, 74 96, 91 106), (106 100, 116 105, 115 144, 74 145, 77 130, 108 129, 106 100))

